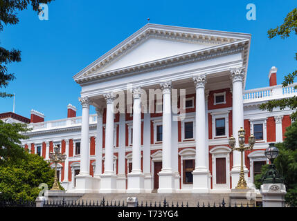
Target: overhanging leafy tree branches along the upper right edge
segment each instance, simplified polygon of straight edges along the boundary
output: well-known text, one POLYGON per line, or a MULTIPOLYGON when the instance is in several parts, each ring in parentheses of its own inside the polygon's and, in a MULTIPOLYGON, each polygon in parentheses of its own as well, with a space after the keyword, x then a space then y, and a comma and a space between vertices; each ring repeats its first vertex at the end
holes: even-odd
MULTIPOLYGON (((297 35, 297 8, 294 8, 287 17, 285 17, 284 23, 280 27, 271 28, 268 30, 267 34, 269 39, 272 39, 273 37, 280 36, 282 39, 286 39, 291 35, 291 32, 295 32, 295 35, 297 35)), ((295 59, 297 60, 297 53, 295 56, 295 59)), ((287 76, 285 76, 284 81, 282 82, 282 87, 286 87, 289 84, 294 83, 294 78, 297 76, 297 70, 294 70, 292 73, 289 73, 287 76)), ((297 89, 297 86, 295 86, 297 89)), ((285 108, 290 108, 291 110, 294 110, 294 112, 291 114, 291 119, 296 120, 297 119, 297 97, 289 97, 284 99, 278 99, 278 100, 271 100, 267 103, 260 105, 260 110, 262 111, 273 111, 273 108, 279 107, 280 110, 283 110, 285 108)))

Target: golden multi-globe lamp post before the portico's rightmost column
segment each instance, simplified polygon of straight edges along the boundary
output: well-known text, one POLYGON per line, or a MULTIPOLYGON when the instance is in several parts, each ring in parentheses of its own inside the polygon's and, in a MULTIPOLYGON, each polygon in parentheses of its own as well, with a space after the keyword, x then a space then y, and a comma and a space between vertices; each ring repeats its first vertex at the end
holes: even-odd
POLYGON ((236 140, 233 137, 233 135, 231 135, 231 137, 229 138, 229 145, 231 146, 232 151, 240 151, 240 153, 241 153, 240 180, 238 180, 238 183, 237 183, 237 186, 235 187, 235 189, 246 189, 246 181, 244 180, 243 153, 246 150, 252 150, 253 145, 255 144, 255 137, 253 135, 251 135, 249 137, 249 146, 245 146, 244 145, 244 140, 245 140, 244 135, 245 135, 245 131, 241 127, 240 130, 238 131, 238 142, 240 144, 239 147, 235 147, 236 140))

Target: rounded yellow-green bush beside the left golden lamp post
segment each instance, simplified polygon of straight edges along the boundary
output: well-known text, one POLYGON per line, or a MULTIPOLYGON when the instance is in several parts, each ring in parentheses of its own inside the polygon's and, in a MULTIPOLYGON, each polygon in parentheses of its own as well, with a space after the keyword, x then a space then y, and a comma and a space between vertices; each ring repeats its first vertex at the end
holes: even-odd
POLYGON ((53 186, 55 171, 42 157, 24 152, 24 159, 17 164, 8 160, 0 166, 1 200, 33 201, 42 189, 39 184, 53 186))

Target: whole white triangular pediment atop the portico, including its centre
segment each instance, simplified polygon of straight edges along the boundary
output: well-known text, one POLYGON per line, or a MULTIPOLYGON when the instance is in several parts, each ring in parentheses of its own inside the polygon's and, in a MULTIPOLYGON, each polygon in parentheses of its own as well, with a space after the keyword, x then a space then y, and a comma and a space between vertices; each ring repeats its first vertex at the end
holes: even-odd
POLYGON ((224 46, 249 38, 250 35, 241 33, 147 24, 81 70, 73 79, 78 81, 100 73, 123 70, 123 68, 131 67, 134 70, 137 66, 144 64, 150 66, 154 61, 163 62, 166 58, 224 46))

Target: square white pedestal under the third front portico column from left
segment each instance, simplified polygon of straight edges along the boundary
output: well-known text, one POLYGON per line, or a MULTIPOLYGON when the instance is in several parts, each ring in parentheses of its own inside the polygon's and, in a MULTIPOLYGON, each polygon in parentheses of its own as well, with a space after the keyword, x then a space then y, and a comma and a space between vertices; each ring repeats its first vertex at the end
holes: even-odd
POLYGON ((144 175, 141 172, 128 173, 128 188, 127 193, 144 193, 144 175))

